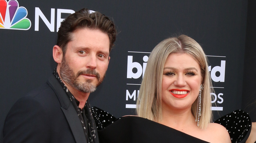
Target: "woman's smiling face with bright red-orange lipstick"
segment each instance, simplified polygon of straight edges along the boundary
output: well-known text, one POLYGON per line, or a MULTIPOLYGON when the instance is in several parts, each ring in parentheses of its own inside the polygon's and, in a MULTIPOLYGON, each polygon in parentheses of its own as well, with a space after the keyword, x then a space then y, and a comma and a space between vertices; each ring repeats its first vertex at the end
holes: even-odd
POLYGON ((165 111, 191 109, 202 83, 198 62, 188 54, 170 54, 162 77, 162 108, 165 111))

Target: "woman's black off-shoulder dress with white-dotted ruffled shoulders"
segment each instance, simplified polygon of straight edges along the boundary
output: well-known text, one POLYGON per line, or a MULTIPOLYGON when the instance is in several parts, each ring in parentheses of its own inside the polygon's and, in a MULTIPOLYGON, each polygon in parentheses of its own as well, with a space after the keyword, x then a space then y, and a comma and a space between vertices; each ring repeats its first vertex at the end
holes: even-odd
MULTIPOLYGON (((96 121, 100 143, 207 143, 149 119, 136 116, 117 119, 97 107, 92 108, 92 113, 96 121)), ((227 128, 232 143, 246 141, 250 133, 251 121, 248 114, 241 110, 234 111, 231 115, 228 114, 215 122, 227 128), (233 116, 233 114, 237 116, 233 116), (233 118, 228 118, 229 116, 233 118), (243 120, 240 121, 242 118, 243 120)))

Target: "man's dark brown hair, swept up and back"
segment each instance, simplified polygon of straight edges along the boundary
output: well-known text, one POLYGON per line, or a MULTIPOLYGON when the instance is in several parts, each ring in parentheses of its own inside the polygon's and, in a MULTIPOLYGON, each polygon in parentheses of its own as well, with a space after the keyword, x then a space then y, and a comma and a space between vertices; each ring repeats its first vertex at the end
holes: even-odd
POLYGON ((63 56, 66 46, 72 40, 72 33, 80 28, 98 29, 109 37, 109 52, 114 46, 117 30, 113 21, 99 12, 90 13, 90 10, 83 8, 68 16, 61 23, 58 31, 57 45, 62 49, 63 56))

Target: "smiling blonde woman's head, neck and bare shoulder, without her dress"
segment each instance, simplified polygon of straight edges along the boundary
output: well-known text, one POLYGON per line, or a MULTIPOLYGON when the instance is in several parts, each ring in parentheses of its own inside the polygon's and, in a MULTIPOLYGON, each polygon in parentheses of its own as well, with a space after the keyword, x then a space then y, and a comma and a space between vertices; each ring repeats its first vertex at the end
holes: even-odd
POLYGON ((210 86, 207 59, 195 40, 185 35, 163 40, 147 62, 138 116, 208 142, 230 142, 223 126, 210 123, 210 86))

